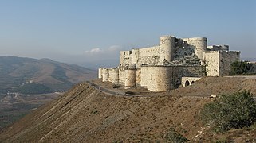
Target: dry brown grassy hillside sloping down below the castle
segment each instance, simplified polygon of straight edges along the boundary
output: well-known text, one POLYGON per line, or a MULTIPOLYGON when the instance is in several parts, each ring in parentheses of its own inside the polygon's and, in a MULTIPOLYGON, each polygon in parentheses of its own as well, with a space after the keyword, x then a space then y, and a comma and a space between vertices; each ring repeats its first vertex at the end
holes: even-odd
MULTIPOLYGON (((212 141, 219 137, 238 142, 253 141, 256 129, 209 133, 200 122, 199 112, 203 105, 214 99, 208 95, 195 95, 202 94, 199 89, 219 94, 251 90, 255 94, 255 83, 254 76, 205 77, 190 87, 176 89, 174 95, 160 92, 157 93, 159 96, 153 97, 108 95, 88 83, 81 83, 14 123, 0 134, 0 141, 156 142, 168 141, 168 137, 175 133, 190 141, 212 141), (226 86, 226 80, 230 82, 229 86, 226 86), (203 85, 205 81, 209 84, 203 85), (215 88, 217 84, 219 87, 215 88)), ((102 86, 115 90, 110 88, 111 83, 102 86)), ((148 94, 154 95, 152 92, 148 94)))

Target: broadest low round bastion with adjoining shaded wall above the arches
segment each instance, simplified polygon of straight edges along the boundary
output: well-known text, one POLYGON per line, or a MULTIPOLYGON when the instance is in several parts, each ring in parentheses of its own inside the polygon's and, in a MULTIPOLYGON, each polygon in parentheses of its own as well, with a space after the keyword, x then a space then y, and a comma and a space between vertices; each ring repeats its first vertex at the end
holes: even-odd
POLYGON ((140 84, 149 91, 167 91, 181 84, 183 76, 205 76, 204 66, 143 66, 140 84))

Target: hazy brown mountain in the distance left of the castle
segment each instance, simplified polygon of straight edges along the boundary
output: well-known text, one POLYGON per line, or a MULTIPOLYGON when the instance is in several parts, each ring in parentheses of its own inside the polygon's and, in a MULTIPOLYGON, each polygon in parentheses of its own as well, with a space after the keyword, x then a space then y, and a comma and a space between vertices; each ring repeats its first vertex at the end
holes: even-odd
POLYGON ((49 59, 0 56, 0 93, 67 90, 75 83, 96 78, 96 71, 49 59), (31 89, 31 90, 30 90, 31 89), (37 91, 35 91, 37 90, 37 91))

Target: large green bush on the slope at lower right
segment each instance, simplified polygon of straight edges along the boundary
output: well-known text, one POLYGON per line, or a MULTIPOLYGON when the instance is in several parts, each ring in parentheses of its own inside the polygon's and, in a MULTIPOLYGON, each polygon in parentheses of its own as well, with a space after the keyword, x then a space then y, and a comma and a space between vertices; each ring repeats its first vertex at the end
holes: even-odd
POLYGON ((203 106, 201 118, 216 131, 249 127, 256 121, 256 103, 250 91, 221 95, 203 106))

